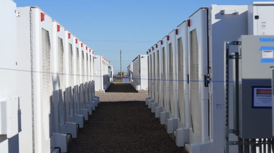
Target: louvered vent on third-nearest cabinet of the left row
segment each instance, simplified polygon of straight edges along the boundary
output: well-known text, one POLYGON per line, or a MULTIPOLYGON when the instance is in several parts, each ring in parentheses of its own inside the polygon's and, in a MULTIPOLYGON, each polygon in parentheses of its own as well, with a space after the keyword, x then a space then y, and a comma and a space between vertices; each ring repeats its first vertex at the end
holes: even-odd
POLYGON ((74 101, 73 101, 73 52, 72 44, 68 44, 68 84, 69 84, 69 115, 74 115, 74 101))

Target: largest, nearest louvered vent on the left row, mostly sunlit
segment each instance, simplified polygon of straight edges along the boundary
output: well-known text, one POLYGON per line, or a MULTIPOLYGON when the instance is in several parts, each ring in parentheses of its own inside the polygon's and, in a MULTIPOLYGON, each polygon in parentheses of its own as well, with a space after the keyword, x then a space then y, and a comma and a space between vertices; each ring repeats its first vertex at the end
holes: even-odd
POLYGON ((51 82, 51 42, 49 32, 42 28, 42 103, 46 140, 52 135, 53 106, 51 82))

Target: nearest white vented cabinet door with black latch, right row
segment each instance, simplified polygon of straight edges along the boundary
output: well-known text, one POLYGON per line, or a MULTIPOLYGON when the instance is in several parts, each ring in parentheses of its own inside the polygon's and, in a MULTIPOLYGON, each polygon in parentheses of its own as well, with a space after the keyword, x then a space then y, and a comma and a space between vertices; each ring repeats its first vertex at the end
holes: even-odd
POLYGON ((190 68, 190 143, 209 139, 209 108, 207 74, 207 8, 201 8, 190 17, 189 68, 190 68))

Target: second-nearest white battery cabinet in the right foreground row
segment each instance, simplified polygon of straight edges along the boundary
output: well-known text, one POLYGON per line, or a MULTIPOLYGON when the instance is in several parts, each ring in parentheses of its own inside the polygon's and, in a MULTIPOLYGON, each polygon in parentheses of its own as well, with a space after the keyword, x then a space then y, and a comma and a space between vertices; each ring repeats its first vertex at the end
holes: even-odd
POLYGON ((177 72, 178 72, 178 122, 174 131, 176 145, 189 143, 190 105, 188 73, 188 26, 184 21, 177 26, 177 72))

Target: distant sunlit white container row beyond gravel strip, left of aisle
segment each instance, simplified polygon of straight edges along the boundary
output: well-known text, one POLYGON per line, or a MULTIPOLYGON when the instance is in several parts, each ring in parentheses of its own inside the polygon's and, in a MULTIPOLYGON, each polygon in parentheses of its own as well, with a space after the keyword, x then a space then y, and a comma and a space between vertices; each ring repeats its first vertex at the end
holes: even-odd
POLYGON ((110 86, 108 78, 109 62, 102 55, 94 56, 95 91, 105 91, 110 86))

